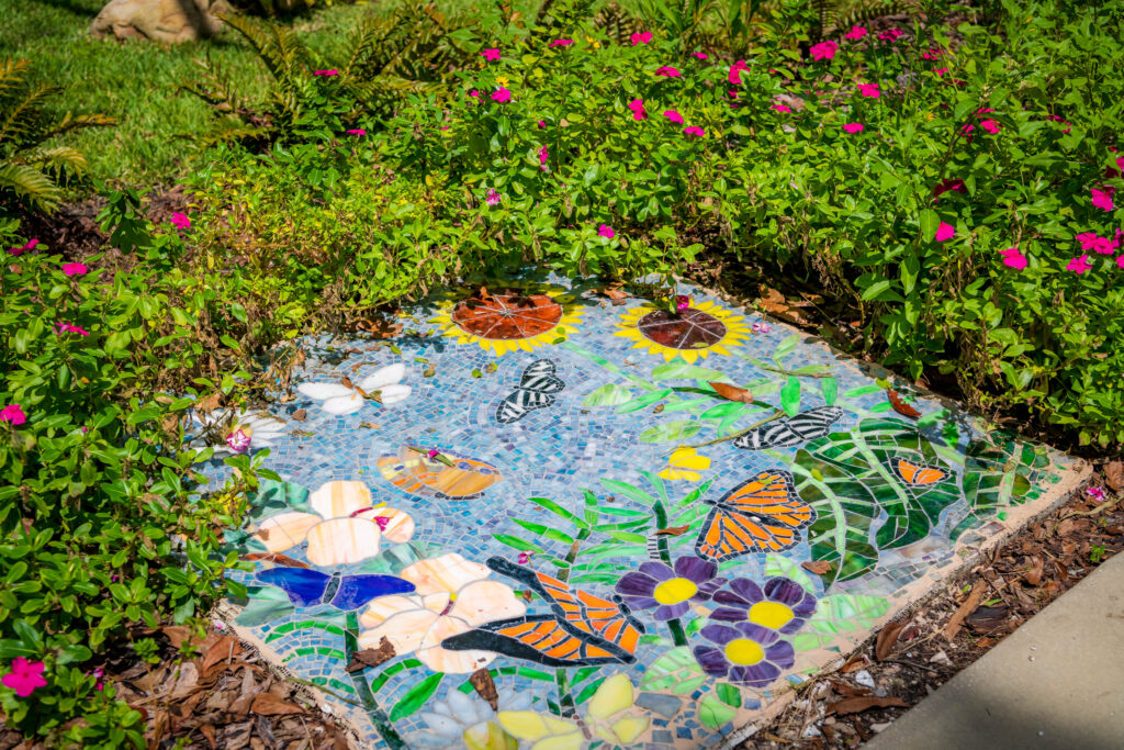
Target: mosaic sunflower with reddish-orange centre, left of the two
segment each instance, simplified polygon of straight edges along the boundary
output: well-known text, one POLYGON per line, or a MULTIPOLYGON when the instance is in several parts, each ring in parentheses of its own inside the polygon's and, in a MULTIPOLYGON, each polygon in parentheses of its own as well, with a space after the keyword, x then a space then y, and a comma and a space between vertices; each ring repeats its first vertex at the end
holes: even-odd
POLYGON ((457 344, 478 344, 489 354, 529 352, 577 333, 581 313, 562 287, 505 289, 450 300, 429 323, 457 344))

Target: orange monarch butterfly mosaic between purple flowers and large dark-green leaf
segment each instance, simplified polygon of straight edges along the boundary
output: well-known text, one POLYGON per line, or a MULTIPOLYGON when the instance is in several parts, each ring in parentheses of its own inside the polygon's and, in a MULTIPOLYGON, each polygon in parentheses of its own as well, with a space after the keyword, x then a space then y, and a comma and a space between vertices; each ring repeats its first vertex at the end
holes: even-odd
POLYGON ((800 541, 801 528, 816 512, 797 496, 792 475, 781 469, 762 471, 717 500, 707 516, 695 551, 700 558, 723 562, 743 554, 780 552, 800 541))

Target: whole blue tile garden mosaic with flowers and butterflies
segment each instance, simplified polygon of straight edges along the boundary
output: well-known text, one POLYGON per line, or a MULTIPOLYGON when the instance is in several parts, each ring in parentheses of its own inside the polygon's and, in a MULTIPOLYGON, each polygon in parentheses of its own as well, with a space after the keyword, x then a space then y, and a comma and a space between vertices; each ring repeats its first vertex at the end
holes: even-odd
POLYGON ((239 635, 371 748, 719 747, 1076 478, 680 291, 450 291, 306 342, 224 431, 281 479, 228 533, 239 635))

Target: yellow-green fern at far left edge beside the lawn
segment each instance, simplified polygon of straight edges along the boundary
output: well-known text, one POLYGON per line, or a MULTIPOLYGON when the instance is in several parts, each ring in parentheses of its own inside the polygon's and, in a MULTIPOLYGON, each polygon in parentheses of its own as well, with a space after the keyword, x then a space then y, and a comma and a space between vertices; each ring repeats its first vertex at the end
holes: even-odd
POLYGON ((58 181, 84 172, 87 162, 76 148, 44 144, 62 133, 114 120, 102 115, 49 116, 44 106, 62 89, 33 85, 27 80, 30 65, 27 60, 0 61, 0 195, 49 213, 62 200, 58 181))

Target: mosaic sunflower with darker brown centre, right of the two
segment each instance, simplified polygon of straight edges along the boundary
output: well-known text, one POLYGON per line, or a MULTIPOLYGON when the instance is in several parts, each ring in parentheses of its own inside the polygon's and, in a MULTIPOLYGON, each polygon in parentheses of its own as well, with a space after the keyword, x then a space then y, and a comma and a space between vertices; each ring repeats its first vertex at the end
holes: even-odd
POLYGON ((711 301, 689 300, 676 313, 645 302, 625 313, 618 326, 614 335, 631 338, 636 342, 633 349, 662 354, 669 362, 677 356, 694 363, 711 353, 729 354, 750 337, 744 316, 711 301))

